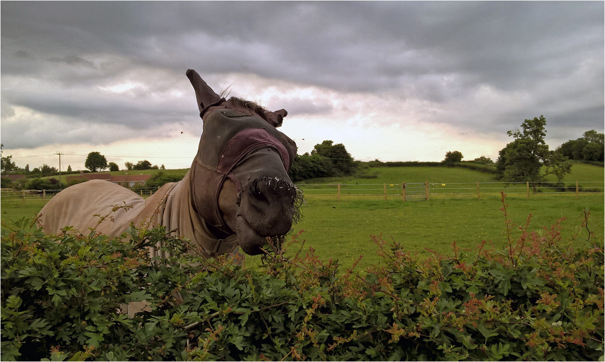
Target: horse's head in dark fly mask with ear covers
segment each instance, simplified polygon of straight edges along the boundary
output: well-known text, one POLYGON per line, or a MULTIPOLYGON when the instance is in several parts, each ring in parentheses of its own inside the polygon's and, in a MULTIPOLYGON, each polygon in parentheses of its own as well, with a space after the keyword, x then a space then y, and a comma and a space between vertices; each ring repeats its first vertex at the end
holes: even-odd
POLYGON ((299 218, 302 192, 288 171, 296 143, 281 133, 287 112, 220 97, 192 69, 203 132, 191 166, 192 206, 217 239, 237 234, 250 255, 266 238, 281 236, 299 218))

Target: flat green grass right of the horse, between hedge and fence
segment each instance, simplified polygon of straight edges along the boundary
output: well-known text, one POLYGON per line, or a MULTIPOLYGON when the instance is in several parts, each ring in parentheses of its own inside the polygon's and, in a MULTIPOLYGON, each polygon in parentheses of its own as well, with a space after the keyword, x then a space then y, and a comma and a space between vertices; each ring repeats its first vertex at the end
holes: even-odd
MULTIPOLYGON (((431 201, 384 201, 379 197, 350 196, 338 202, 333 196, 310 196, 304 207, 304 219, 294 231, 305 230, 301 239, 312 246, 322 259, 338 259, 350 267, 359 254, 360 265, 378 261, 376 245, 370 235, 391 239, 407 250, 428 255, 425 248, 448 253, 456 241, 462 248, 474 249, 485 240, 494 247, 506 245, 505 218, 497 196, 481 201, 465 196, 441 197, 431 201)), ((507 198, 508 215, 515 224, 525 224, 532 214, 530 230, 549 227, 560 218, 563 236, 571 236, 581 225, 582 210, 591 212, 590 230, 603 239, 603 195, 540 195, 533 199, 519 196, 507 198)), ((517 231, 515 230, 515 235, 517 231)))

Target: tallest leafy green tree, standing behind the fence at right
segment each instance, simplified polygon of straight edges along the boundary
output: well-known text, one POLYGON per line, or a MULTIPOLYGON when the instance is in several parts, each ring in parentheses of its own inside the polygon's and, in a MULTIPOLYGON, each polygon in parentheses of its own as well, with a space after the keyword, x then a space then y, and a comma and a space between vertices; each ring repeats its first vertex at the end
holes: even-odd
MULTIPOLYGON (((571 171, 571 164, 558 152, 548 149, 545 143, 546 118, 535 117, 525 120, 521 129, 508 131, 515 140, 507 144, 499 152, 496 170, 500 173, 502 181, 519 183, 529 181, 541 182, 544 176, 553 174, 561 181, 566 173, 571 171), (545 173, 540 174, 540 168, 546 166, 545 173)), ((534 184, 534 192, 537 187, 534 184)))

